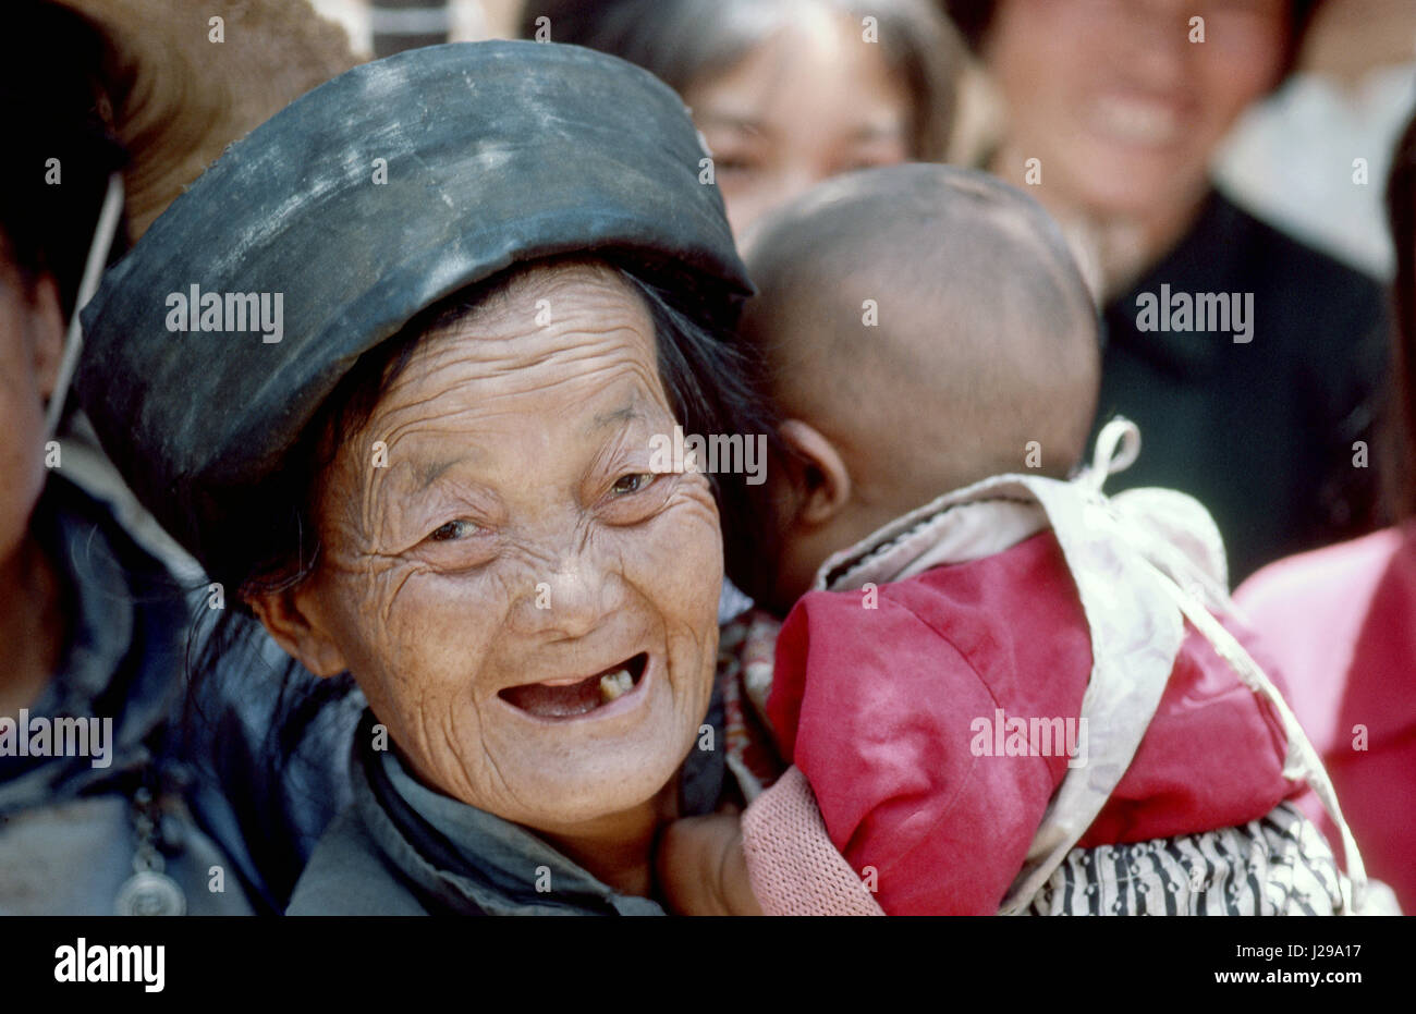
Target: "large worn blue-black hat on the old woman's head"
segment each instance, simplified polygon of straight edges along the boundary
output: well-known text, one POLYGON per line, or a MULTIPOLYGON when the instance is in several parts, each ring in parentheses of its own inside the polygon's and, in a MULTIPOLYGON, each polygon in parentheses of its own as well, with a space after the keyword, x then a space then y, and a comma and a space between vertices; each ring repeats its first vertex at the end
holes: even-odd
POLYGON ((513 263, 627 254, 731 320, 750 285, 704 157, 673 91, 589 50, 467 42, 365 64, 232 144, 109 272, 84 312, 79 394, 135 493, 202 559, 239 500, 224 493, 282 466, 362 353, 513 263), (200 327, 207 293, 225 330, 170 330, 200 327), (232 293, 272 310, 280 293, 279 341, 232 293))

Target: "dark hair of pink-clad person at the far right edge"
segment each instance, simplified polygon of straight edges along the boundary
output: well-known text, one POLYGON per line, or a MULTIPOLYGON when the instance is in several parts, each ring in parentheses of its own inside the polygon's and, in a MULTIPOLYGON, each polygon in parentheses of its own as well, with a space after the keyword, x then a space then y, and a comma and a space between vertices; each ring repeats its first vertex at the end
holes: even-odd
POLYGON ((1416 116, 1396 143, 1386 178, 1386 221, 1396 245, 1392 295, 1392 391, 1388 438, 1393 452, 1388 486, 1398 518, 1416 517, 1416 116))

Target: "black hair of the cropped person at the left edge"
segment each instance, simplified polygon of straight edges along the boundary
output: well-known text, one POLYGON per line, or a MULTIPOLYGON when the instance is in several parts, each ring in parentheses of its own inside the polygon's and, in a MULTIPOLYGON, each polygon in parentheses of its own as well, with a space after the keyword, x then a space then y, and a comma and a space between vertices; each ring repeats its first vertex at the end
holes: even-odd
MULTIPOLYGON (((68 320, 108 177, 126 161, 105 86, 110 54, 102 31, 57 4, 20 0, 3 17, 0 246, 25 287, 54 276, 68 320)), ((120 229, 109 261, 125 248, 120 229)))

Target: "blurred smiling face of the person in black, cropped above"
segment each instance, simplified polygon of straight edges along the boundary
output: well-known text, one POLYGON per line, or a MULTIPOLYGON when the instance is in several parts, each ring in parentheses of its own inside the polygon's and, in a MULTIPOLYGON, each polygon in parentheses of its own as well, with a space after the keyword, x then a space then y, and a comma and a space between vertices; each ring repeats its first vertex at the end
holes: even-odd
POLYGON ((1003 0, 986 58, 1011 157, 1041 159, 1044 200, 1103 215, 1195 200, 1225 132, 1274 84, 1287 18, 1287 0, 1003 0))

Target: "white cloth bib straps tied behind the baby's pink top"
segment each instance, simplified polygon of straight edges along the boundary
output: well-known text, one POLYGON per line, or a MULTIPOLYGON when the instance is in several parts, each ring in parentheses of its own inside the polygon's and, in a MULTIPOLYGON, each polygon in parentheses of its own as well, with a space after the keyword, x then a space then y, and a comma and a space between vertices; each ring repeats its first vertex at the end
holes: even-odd
POLYGON ((1107 476, 1129 467, 1138 453, 1136 425, 1114 419, 1102 428, 1092 465, 1078 479, 1008 474, 949 493, 834 555, 817 574, 816 588, 850 591, 901 581, 930 566, 1001 552, 1052 528, 1090 632, 1092 673, 1080 710, 1089 749, 1086 763, 1069 768, 1054 793, 1000 913, 1031 905, 1114 793, 1170 683, 1185 619, 1246 687, 1274 707, 1289 739, 1283 773, 1307 777, 1341 830, 1351 874, 1344 899, 1359 911, 1362 860, 1317 751, 1263 670, 1208 612, 1232 610, 1214 520, 1174 490, 1102 493, 1107 476))

